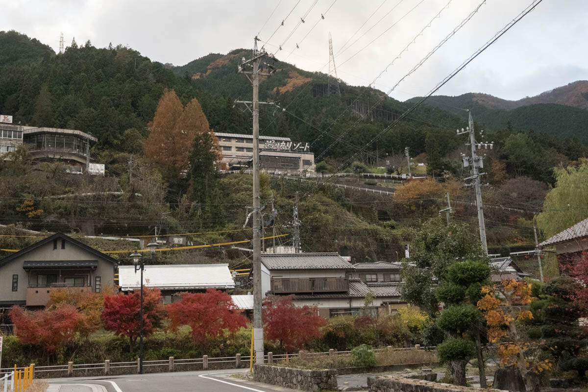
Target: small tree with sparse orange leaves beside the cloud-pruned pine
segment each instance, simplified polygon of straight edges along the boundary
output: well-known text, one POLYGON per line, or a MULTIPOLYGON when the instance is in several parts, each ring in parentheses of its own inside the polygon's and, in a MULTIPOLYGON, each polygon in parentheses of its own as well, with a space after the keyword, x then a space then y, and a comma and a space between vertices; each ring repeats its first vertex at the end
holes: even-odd
POLYGON ((534 390, 534 378, 551 368, 552 363, 537 360, 539 342, 524 339, 517 328, 517 321, 533 319, 533 313, 524 309, 533 300, 531 284, 505 280, 482 287, 482 294, 477 307, 486 316, 488 340, 498 345, 500 363, 518 367, 527 391, 534 390))

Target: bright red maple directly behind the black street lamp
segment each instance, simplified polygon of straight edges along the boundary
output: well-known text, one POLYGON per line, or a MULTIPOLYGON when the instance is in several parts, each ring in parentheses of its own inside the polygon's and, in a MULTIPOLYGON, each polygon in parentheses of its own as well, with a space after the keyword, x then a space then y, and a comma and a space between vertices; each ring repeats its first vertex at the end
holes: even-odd
MULTIPOLYGON (((105 329, 119 336, 129 338, 131 350, 139 337, 141 319, 139 308, 141 297, 139 290, 131 294, 115 294, 104 297, 102 321, 105 329)), ((149 336, 154 329, 161 326, 165 318, 165 308, 161 299, 161 291, 143 286, 143 336, 149 336)))

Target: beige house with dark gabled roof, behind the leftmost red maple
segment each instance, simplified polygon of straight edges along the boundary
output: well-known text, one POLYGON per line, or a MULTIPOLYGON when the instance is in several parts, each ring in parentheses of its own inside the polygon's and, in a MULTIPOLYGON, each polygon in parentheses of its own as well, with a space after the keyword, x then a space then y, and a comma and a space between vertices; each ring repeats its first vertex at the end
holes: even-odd
POLYGON ((118 262, 56 233, 0 260, 0 307, 45 306, 52 290, 100 293, 112 287, 118 262))

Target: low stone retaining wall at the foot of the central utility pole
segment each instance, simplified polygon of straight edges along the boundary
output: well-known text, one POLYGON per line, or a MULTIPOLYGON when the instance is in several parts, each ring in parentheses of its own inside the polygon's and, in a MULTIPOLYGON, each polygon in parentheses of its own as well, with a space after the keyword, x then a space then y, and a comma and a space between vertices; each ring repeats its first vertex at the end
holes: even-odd
POLYGON ((302 370, 291 367, 254 365, 253 380, 303 391, 336 391, 335 370, 302 370))

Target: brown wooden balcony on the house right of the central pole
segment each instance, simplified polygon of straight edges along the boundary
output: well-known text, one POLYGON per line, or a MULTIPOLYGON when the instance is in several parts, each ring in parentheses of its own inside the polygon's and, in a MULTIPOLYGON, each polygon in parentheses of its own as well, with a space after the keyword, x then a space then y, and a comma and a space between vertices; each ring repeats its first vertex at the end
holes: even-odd
POLYGON ((272 278, 272 293, 336 293, 349 290, 349 280, 343 277, 272 278))

